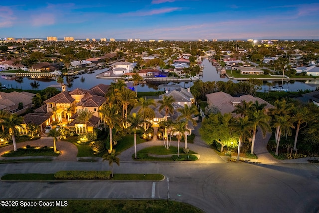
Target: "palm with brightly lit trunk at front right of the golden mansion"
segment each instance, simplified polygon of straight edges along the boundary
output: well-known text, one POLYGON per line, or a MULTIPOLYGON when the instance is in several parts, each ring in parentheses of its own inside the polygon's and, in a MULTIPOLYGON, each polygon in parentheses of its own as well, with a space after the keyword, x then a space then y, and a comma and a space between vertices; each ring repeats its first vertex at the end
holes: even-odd
POLYGON ((104 123, 109 127, 110 132, 110 152, 113 149, 113 137, 112 129, 116 124, 119 124, 121 121, 119 115, 119 107, 117 105, 109 106, 107 104, 102 105, 102 109, 99 111, 104 116, 104 123))

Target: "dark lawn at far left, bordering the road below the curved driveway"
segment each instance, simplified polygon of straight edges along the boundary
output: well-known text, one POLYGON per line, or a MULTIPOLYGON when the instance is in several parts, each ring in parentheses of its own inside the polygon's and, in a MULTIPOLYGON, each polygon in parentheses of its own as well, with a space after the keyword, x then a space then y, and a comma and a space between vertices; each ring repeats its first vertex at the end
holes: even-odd
POLYGON ((55 153, 53 148, 41 147, 35 149, 34 147, 30 148, 19 148, 17 151, 10 151, 4 153, 1 157, 24 157, 24 156, 58 156, 59 153, 55 153))

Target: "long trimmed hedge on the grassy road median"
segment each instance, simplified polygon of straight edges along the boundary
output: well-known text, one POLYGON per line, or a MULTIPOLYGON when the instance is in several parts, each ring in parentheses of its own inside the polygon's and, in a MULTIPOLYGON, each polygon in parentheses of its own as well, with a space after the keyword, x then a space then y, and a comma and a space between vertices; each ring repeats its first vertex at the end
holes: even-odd
POLYGON ((54 174, 56 179, 110 179, 110 171, 59 171, 54 174))

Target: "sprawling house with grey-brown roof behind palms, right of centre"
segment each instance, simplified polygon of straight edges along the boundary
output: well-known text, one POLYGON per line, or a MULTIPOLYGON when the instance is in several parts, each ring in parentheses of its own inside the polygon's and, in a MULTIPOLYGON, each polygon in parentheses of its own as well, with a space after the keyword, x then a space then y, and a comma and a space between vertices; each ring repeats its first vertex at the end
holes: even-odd
MULTIPOLYGON (((221 114, 232 113, 236 109, 236 105, 241 104, 244 100, 246 102, 256 102, 259 104, 266 104, 265 109, 274 108, 273 105, 267 101, 254 97, 252 95, 242 95, 240 97, 233 97, 225 92, 214 92, 206 95, 208 103, 208 111, 212 108, 217 108, 221 114)), ((236 117, 236 113, 232 113, 233 117, 236 117)))

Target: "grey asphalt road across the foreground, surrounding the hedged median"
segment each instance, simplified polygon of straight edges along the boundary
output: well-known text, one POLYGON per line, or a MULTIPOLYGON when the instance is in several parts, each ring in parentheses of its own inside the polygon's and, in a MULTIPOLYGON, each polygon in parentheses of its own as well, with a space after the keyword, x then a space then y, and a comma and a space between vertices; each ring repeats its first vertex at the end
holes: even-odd
MULTIPOLYGON (((0 164, 0 175, 108 169, 106 162, 14 163, 0 164)), ((161 173, 166 178, 155 184, 152 181, 1 181, 0 198, 167 199, 169 177, 170 199, 190 203, 207 213, 319 212, 318 164, 122 162, 119 167, 114 166, 114 172, 161 173)))

